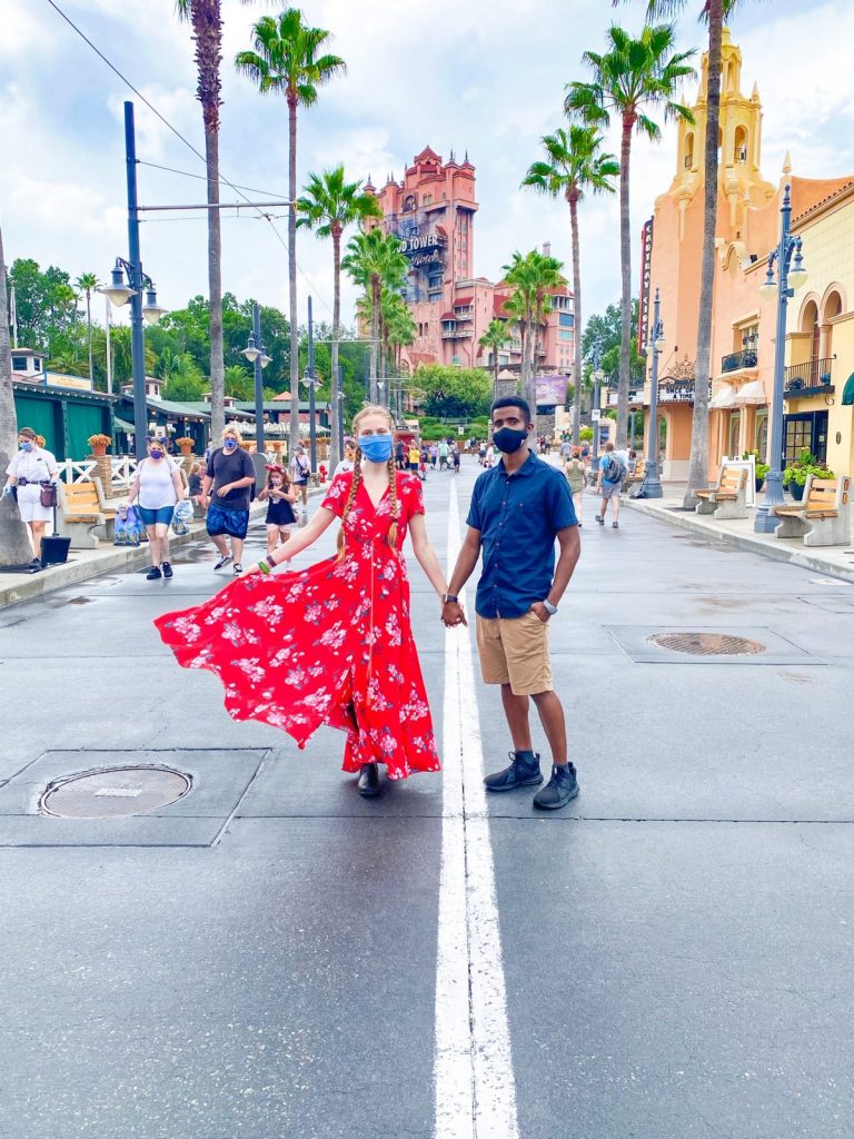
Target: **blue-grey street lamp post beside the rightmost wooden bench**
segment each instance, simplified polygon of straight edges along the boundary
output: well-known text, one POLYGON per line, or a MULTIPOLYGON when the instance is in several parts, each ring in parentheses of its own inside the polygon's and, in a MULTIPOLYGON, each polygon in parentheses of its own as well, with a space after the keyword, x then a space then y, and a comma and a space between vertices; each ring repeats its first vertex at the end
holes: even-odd
POLYGON ((777 341, 774 343, 774 380, 771 401, 771 437, 769 441, 770 470, 765 476, 765 501, 756 511, 754 531, 757 534, 771 534, 780 525, 780 519, 772 514, 772 508, 782 506, 782 403, 783 403, 783 361, 786 359, 786 309, 795 289, 806 280, 806 269, 800 252, 800 238, 789 232, 791 220, 791 187, 787 186, 780 207, 782 223, 780 226, 780 244, 769 254, 767 273, 759 285, 759 293, 765 300, 777 296, 777 341), (791 264, 791 259, 795 263, 791 264), (774 262, 777 262, 777 280, 774 280, 774 262), (789 268, 791 265, 791 268, 789 268))

